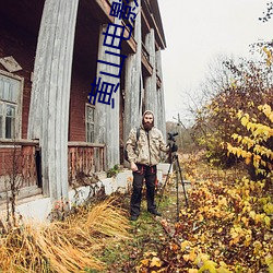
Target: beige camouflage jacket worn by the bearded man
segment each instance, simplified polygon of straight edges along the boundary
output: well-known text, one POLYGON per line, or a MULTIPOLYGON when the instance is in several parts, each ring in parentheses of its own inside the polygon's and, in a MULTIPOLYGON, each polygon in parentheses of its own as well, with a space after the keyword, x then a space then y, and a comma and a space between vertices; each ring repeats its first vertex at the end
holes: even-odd
POLYGON ((169 147, 164 142, 162 132, 153 127, 149 132, 143 126, 140 128, 140 136, 136 143, 136 128, 133 128, 126 143, 129 162, 140 163, 149 166, 161 162, 161 151, 168 152, 169 147))

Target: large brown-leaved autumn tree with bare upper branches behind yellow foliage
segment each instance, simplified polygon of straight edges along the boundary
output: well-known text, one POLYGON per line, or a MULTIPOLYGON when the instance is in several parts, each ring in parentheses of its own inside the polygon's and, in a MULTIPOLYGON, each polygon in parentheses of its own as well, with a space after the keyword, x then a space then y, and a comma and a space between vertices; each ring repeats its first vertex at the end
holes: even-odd
POLYGON ((262 47, 259 52, 259 60, 223 59, 221 69, 204 85, 207 100, 197 111, 193 130, 211 163, 221 166, 235 163, 236 157, 228 157, 219 143, 228 142, 233 133, 247 134, 237 118, 239 110, 264 120, 257 106, 273 104, 272 50, 262 47))

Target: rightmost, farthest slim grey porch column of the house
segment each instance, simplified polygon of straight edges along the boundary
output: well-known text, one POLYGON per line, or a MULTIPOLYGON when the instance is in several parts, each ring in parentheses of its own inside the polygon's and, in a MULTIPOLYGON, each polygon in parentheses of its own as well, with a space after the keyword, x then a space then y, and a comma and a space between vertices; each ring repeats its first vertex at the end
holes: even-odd
POLYGON ((165 116, 165 98, 164 98, 164 81, 163 81, 163 70, 162 70, 162 50, 155 52, 156 59, 156 71, 162 80, 162 85, 157 87, 157 99, 158 99, 158 129, 162 130, 163 135, 166 135, 166 116, 165 116))

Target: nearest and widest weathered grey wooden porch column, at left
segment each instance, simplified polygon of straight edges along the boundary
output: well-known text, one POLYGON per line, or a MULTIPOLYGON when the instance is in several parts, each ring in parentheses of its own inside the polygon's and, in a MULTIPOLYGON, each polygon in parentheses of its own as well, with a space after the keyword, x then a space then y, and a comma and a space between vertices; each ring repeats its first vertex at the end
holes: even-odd
MULTIPOLYGON (((68 126, 79 0, 46 0, 38 35, 28 139, 39 139, 43 193, 68 197, 68 126)), ((31 15, 31 14, 29 14, 31 15)))

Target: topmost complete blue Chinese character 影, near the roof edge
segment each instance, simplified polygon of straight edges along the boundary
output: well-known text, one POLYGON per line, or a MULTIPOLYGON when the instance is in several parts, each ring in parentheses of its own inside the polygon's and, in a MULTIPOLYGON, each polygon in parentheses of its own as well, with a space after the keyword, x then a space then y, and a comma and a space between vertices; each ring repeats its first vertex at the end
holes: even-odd
MULTIPOLYGON (((119 0, 120 2, 121 0, 119 0)), ((133 20, 135 20, 136 14, 133 12, 135 10, 135 7, 132 8, 130 5, 124 5, 123 2, 119 3, 119 2, 112 2, 111 3, 111 10, 110 10, 110 15, 118 17, 118 19, 127 19, 127 20, 131 20, 131 22, 133 23, 133 20)), ((129 3, 129 1, 127 0, 127 3, 129 3)), ((138 2, 134 1, 134 3, 136 4, 136 7, 139 7, 138 2)))

